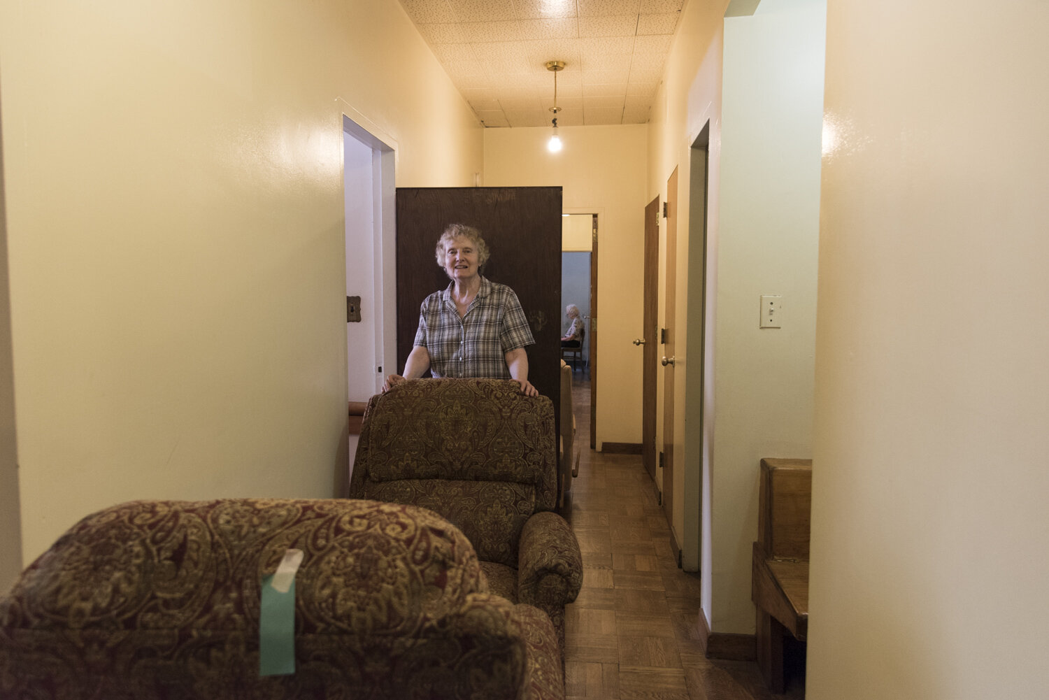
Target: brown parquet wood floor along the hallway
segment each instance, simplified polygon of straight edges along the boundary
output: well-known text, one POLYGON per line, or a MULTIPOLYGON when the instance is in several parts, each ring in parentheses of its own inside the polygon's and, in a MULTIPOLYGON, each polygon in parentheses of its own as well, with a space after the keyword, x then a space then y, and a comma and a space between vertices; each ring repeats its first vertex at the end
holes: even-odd
POLYGON ((706 659, 700 576, 678 568, 670 532, 640 455, 588 449, 590 381, 575 373, 579 476, 569 522, 583 587, 565 610, 569 700, 799 700, 804 679, 773 696, 752 662, 706 659))

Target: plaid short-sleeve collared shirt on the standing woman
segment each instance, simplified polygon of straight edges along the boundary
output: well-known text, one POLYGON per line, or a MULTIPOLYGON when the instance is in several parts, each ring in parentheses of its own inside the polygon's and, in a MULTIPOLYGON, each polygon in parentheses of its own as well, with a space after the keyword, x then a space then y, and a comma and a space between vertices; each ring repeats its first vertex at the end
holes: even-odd
POLYGON ((430 354, 434 377, 511 379, 504 355, 535 343, 517 295, 480 278, 480 290, 459 318, 452 285, 426 297, 419 312, 415 345, 430 354))

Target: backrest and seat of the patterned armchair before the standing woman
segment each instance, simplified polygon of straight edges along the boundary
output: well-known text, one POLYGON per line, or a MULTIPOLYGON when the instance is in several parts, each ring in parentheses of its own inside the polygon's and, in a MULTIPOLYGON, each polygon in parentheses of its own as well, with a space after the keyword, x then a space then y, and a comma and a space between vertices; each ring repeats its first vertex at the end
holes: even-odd
POLYGON ((368 402, 349 495, 429 508, 516 567, 524 523, 556 507, 556 444, 550 399, 516 382, 402 382, 368 402))

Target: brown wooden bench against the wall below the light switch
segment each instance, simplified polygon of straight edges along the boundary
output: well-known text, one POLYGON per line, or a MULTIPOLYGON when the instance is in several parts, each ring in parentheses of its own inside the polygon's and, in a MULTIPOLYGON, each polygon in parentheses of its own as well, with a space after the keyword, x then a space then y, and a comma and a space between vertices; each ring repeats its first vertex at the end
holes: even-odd
POLYGON ((757 608, 757 664, 783 693, 784 641, 809 632, 809 516, 812 460, 762 460, 750 597, 757 608))

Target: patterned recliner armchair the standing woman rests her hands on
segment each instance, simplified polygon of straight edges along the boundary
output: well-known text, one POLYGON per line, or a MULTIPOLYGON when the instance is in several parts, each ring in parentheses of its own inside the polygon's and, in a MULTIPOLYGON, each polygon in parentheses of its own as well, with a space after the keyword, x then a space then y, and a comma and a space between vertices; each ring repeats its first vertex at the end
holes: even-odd
POLYGON ((516 382, 402 382, 368 402, 349 492, 423 506, 458 527, 492 592, 545 612, 563 654, 582 558, 553 512, 556 445, 550 399, 526 397, 516 382))

